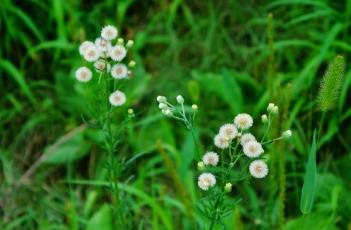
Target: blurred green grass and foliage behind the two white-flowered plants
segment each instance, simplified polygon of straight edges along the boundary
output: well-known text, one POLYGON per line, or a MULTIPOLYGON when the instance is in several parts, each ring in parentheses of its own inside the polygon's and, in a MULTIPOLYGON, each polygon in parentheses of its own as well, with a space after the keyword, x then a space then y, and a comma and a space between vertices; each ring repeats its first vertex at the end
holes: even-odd
POLYGON ((123 176, 130 229, 191 229, 181 191, 191 203, 199 198, 194 145, 155 100, 178 94, 199 105, 202 151, 239 112, 259 123, 271 101, 282 111, 276 132, 294 132, 272 150, 270 179, 234 185, 233 196, 243 200, 225 219, 227 229, 350 229, 350 19, 349 0, 2 0, 0 228, 113 229, 101 136, 82 125, 86 93, 74 78, 79 44, 113 24, 135 40, 137 62, 126 84, 128 106, 116 117, 128 108, 136 114, 118 154, 143 153, 123 176), (345 80, 321 123, 318 89, 338 54, 346 59, 345 80), (315 128, 317 192, 313 212, 302 216, 315 128))

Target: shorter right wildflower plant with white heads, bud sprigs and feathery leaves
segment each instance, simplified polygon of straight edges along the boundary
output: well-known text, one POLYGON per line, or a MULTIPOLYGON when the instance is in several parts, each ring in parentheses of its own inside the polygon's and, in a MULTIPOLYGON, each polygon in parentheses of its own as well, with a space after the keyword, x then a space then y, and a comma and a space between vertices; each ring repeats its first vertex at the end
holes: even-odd
MULTIPOLYGON (((157 97, 157 101, 165 116, 182 122, 188 130, 193 129, 195 114, 198 111, 196 105, 192 106, 192 110, 187 110, 181 96, 177 96, 180 108, 169 103, 163 96, 157 97)), ((250 132, 254 125, 250 114, 236 115, 232 123, 223 124, 214 136, 215 149, 202 154, 196 163, 197 185, 203 194, 197 209, 209 221, 209 229, 213 229, 216 224, 223 224, 223 217, 232 212, 240 202, 240 198, 231 196, 236 185, 250 178, 262 180, 269 174, 266 146, 278 140, 288 139, 292 135, 291 130, 286 130, 279 137, 267 139, 272 121, 278 113, 278 106, 270 103, 267 114, 261 116, 264 125, 261 138, 250 132)), ((196 148, 199 151, 198 146, 196 148)))

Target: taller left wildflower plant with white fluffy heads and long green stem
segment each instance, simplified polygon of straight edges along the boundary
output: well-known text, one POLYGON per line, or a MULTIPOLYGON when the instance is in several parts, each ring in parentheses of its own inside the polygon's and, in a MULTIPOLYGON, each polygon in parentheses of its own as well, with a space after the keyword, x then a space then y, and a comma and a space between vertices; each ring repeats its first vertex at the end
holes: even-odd
POLYGON ((121 204, 119 179, 126 167, 126 160, 116 154, 116 148, 120 141, 121 130, 133 117, 133 110, 129 109, 128 115, 125 113, 125 118, 118 124, 116 112, 127 102, 127 95, 122 88, 131 77, 131 69, 135 66, 133 60, 126 64, 133 43, 132 40, 125 42, 119 37, 116 27, 107 25, 102 28, 95 41, 81 43, 79 53, 84 65, 75 72, 76 79, 84 84, 84 88, 90 88, 87 96, 92 99, 88 106, 91 117, 86 123, 103 134, 102 147, 107 153, 105 165, 116 214, 115 220, 122 229, 125 227, 125 210, 121 204))

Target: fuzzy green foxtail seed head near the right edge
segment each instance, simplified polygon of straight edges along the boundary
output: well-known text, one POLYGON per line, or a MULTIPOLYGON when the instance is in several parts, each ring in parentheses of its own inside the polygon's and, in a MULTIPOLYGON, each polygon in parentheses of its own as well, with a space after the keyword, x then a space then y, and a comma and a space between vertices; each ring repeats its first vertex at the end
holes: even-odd
POLYGON ((322 79, 317 97, 318 108, 322 112, 331 111, 337 105, 340 90, 344 82, 345 59, 338 55, 329 64, 322 79))

